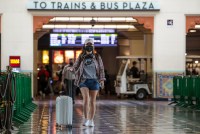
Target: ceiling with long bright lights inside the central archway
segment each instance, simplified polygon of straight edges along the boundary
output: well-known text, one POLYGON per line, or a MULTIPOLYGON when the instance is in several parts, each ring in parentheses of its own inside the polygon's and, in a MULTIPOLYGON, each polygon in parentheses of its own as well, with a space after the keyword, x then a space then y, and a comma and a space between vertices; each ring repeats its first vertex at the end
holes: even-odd
MULTIPOLYGON (((69 18, 69 17, 66 17, 66 18, 69 18)), ((100 18, 100 17, 99 18, 90 17, 90 19, 88 18, 89 17, 87 17, 87 20, 83 18, 82 21, 80 19, 77 19, 77 20, 74 19, 72 21, 69 21, 70 19, 68 20, 63 19, 59 21, 59 17, 55 17, 53 19, 50 19, 48 23, 46 23, 45 25, 48 25, 48 26, 53 25, 53 27, 57 25, 62 25, 62 26, 63 25, 94 25, 94 27, 98 25, 104 25, 104 26, 130 25, 132 26, 133 28, 119 28, 119 29, 116 28, 116 31, 118 33, 118 38, 121 38, 121 39, 137 39, 137 40, 141 39, 142 40, 144 33, 151 33, 150 29, 144 28, 143 24, 139 24, 136 19, 130 20, 130 17, 125 17, 125 20, 117 20, 117 18, 111 18, 111 20, 109 19, 109 21, 106 18, 104 18, 105 20, 104 21, 103 18, 100 18), (92 19, 95 20, 94 24, 91 22, 92 19)), ((120 18, 118 17, 118 19, 120 18)), ((43 28, 37 29, 36 34, 35 34, 37 38, 42 37, 44 34, 49 33, 53 29, 53 27, 44 28, 45 25, 43 25, 43 28)))

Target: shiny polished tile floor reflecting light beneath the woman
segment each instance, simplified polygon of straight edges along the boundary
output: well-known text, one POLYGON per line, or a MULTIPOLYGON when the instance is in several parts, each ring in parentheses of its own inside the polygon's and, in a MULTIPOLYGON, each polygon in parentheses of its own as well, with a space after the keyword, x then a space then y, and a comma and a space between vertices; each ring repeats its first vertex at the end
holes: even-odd
POLYGON ((72 130, 56 128, 55 98, 35 101, 38 108, 18 134, 200 134, 200 111, 168 105, 167 101, 97 100, 95 127, 82 126, 82 101, 74 105, 72 130))

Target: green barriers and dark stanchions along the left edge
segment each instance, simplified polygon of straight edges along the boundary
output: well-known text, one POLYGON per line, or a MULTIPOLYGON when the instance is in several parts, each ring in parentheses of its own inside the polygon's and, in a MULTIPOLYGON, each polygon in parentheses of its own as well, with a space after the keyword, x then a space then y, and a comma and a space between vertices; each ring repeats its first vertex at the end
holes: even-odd
POLYGON ((31 74, 13 73, 8 66, 0 75, 0 132, 12 129, 12 120, 22 124, 36 108, 32 103, 31 74))

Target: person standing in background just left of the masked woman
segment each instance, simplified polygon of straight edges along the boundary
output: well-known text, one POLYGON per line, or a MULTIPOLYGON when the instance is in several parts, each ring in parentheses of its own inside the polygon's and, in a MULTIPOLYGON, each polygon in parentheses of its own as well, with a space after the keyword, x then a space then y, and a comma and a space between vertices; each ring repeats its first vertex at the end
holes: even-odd
POLYGON ((72 97, 73 99, 73 104, 75 103, 74 99, 75 99, 75 90, 76 87, 74 85, 74 80, 75 80, 75 74, 74 72, 70 71, 70 68, 73 66, 74 61, 73 59, 69 59, 69 64, 66 65, 63 68, 62 71, 62 82, 61 84, 65 87, 65 93, 67 95, 69 95, 70 97, 72 97))

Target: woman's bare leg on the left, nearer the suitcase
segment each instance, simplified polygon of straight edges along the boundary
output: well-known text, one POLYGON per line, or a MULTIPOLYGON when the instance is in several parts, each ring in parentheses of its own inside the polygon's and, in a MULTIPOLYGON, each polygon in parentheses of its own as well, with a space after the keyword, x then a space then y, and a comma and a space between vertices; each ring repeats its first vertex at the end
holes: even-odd
POLYGON ((81 94, 83 96, 83 113, 85 116, 85 119, 89 119, 89 89, 87 87, 80 88, 81 94))

